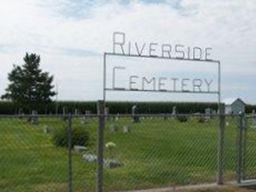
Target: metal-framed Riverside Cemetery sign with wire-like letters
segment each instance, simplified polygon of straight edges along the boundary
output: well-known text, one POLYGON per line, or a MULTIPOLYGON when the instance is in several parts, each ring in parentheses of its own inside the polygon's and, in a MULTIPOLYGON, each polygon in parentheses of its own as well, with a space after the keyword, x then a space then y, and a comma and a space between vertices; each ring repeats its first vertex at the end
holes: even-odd
MULTIPOLYGON (((113 52, 104 53, 103 58, 104 101, 106 99, 106 91, 141 91, 216 94, 220 103, 221 66, 220 61, 211 58, 212 48, 190 47, 182 44, 160 44, 156 42, 131 42, 127 41, 126 34, 123 32, 114 32, 112 41, 113 52), (118 58, 119 61, 113 58, 118 58), (112 63, 107 63, 110 59, 112 59, 112 63), (141 64, 142 59, 145 61, 144 64, 141 64), (161 63, 172 61, 172 65, 170 63, 166 65, 171 68, 172 75, 163 73, 156 75, 154 70, 151 70, 150 74, 138 72, 137 69, 145 71, 143 66, 150 65, 150 62, 153 60, 158 60, 158 62, 161 60, 161 63), (128 62, 129 65, 125 66, 125 62, 128 62), (175 62, 176 64, 174 64, 175 62), (188 75, 187 72, 193 70, 192 65, 195 63, 195 68, 198 68, 198 63, 203 64, 197 70, 199 73, 196 71, 193 75, 188 75), (205 63, 212 65, 205 65, 205 63), (133 68, 132 64, 134 64, 133 68), (134 67, 136 70, 134 70, 134 67), (214 69, 214 76, 213 72, 208 71, 209 68, 214 69)), ((151 66, 156 67, 156 65, 151 66)), ((158 68, 161 68, 161 66, 158 68)))

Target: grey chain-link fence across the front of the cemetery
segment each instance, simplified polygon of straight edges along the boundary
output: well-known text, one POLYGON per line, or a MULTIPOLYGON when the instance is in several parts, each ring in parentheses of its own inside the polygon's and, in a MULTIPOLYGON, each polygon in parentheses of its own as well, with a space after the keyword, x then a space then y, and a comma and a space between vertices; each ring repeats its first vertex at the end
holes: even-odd
MULTIPOLYGON (((0 191, 96 191, 100 118, 0 116, 0 191)), ((225 116, 224 181, 239 173, 242 180, 256 178, 255 119, 225 116), (241 119, 247 122, 242 137, 241 119)), ((104 120, 104 191, 217 181, 218 115, 107 115, 104 120)))

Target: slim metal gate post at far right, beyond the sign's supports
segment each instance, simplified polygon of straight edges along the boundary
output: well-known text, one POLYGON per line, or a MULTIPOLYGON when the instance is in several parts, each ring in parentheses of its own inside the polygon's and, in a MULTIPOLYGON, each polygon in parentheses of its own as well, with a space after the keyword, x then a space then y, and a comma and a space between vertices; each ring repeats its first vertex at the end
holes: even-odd
POLYGON ((238 136, 237 136, 237 183, 242 181, 242 165, 243 165, 243 126, 244 114, 239 115, 238 136))

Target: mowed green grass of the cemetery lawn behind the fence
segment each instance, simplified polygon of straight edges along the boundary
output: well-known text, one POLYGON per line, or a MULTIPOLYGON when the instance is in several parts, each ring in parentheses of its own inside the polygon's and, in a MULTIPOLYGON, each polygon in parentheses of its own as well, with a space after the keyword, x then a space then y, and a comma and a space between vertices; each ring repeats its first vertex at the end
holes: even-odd
MULTIPOLYGON (((228 119, 225 131, 225 178, 234 179, 236 165, 237 119, 228 119)), ((66 191, 68 187, 68 152, 55 147, 51 131, 67 126, 60 118, 40 118, 38 125, 26 119, 0 118, 0 191, 66 191), (47 125, 50 133, 43 127, 47 125)), ((90 133, 87 153, 96 152, 97 119, 82 124, 73 119, 73 127, 80 126, 90 133)), ((256 171, 256 131, 250 129, 246 155, 250 177, 256 171), (255 147, 254 147, 255 146, 255 147), (252 163, 251 163, 252 162, 252 163)), ((174 118, 141 118, 131 123, 129 117, 117 122, 111 118, 105 127, 105 141, 114 142, 114 157, 123 166, 104 168, 105 191, 159 188, 215 182, 217 170, 218 119, 198 123, 190 117, 181 123, 174 118), (117 131, 109 131, 115 122, 117 131), (123 126, 131 126, 130 133, 123 126)), ((81 154, 72 152, 74 191, 94 191, 96 164, 85 162, 81 154)), ((110 156, 105 150, 105 158, 110 156)))

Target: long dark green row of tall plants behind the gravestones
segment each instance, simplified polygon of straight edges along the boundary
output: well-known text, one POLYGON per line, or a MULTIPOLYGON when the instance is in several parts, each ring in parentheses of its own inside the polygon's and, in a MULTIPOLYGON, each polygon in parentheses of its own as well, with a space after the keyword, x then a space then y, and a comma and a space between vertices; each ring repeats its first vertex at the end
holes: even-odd
MULTIPOLYGON (((172 113, 172 109, 176 106, 177 113, 204 113, 206 108, 213 110, 218 109, 217 103, 182 103, 182 102, 107 102, 106 106, 109 108, 111 114, 131 114, 131 108, 133 105, 138 106, 139 113, 145 114, 159 114, 159 113, 172 113)), ((252 110, 256 110, 256 105, 247 105, 246 113, 252 113, 252 110)), ((90 113, 97 113, 96 101, 57 101, 48 104, 47 106, 41 106, 38 108, 39 114, 63 114, 73 113, 85 114, 86 111, 90 113)), ((0 101, 0 114, 18 114, 19 108, 10 101, 0 101)), ((27 110, 23 110, 22 113, 29 114, 27 110)))

